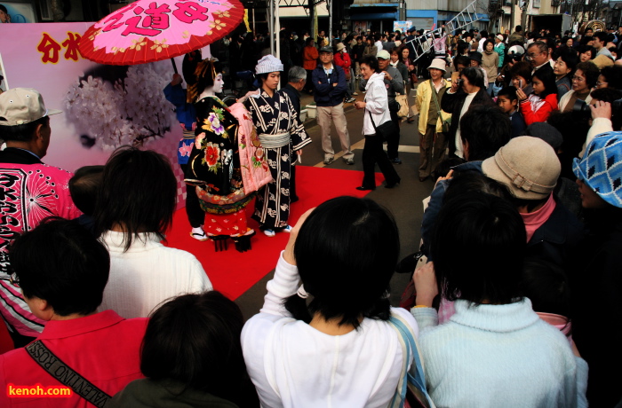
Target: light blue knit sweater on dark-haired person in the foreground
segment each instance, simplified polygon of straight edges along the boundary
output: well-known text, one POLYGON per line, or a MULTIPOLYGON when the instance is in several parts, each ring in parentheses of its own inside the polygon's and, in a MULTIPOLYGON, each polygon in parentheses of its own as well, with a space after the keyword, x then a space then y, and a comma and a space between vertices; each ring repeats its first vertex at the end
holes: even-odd
POLYGON ((455 308, 441 326, 436 310, 411 310, 437 407, 587 406, 586 361, 538 318, 529 299, 479 306, 459 300, 455 308))

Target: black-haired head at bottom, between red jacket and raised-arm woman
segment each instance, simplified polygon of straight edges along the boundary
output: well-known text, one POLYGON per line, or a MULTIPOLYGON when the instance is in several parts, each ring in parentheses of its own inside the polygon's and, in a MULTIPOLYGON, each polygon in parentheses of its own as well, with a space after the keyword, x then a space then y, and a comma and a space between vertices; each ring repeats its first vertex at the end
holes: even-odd
POLYGON ((246 375, 240 308, 219 292, 184 294, 149 318, 140 372, 231 400, 246 375))

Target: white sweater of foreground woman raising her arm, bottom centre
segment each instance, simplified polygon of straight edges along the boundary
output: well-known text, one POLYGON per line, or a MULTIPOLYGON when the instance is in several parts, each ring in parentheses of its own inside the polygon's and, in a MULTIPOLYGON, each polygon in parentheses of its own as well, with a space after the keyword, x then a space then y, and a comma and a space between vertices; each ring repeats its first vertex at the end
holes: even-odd
MULTIPOLYGON (((283 299, 299 286, 298 268, 283 254, 267 283, 263 308, 242 331, 246 368, 264 407, 387 407, 402 373, 402 348, 387 322, 363 319, 358 330, 332 336, 291 318, 283 299)), ((417 323, 403 309, 392 310, 417 323)), ((410 363, 409 363, 410 365, 410 363)))

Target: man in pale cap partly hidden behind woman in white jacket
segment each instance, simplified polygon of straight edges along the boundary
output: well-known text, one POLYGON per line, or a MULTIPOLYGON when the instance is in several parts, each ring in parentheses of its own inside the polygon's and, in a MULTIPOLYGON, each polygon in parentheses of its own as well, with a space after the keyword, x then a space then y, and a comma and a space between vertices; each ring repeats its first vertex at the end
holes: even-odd
MULTIPOLYGON (((391 67, 391 55, 388 51, 381 50, 376 54, 378 59, 378 66, 380 70, 385 73, 385 86, 387 87, 389 114, 391 114, 391 120, 395 123, 400 122, 400 118, 397 116, 397 111, 400 110, 399 104, 395 101, 396 94, 404 93, 403 78, 400 72, 395 67, 391 67)), ((365 89, 367 81, 363 80, 360 84, 361 90, 365 89)), ((399 127, 397 128, 399 130, 399 127)), ((399 131, 392 137, 387 139, 387 155, 389 161, 395 164, 402 164, 402 160, 397 157, 397 149, 400 146, 400 133, 399 131)))

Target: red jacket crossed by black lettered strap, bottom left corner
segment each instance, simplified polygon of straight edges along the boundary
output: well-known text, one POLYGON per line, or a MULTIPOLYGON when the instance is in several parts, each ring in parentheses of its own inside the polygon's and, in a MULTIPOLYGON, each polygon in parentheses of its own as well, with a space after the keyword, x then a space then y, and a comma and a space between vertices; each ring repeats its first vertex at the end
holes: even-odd
MULTIPOLYGON (((122 318, 105 310, 85 318, 51 320, 37 337, 66 365, 80 373, 110 396, 130 381, 144 378, 140 373, 140 342, 147 318, 122 318)), ((3 408, 92 408, 75 392, 69 397, 7 396, 7 385, 41 388, 63 387, 28 355, 14 349, 0 356, 0 406, 3 408)))

